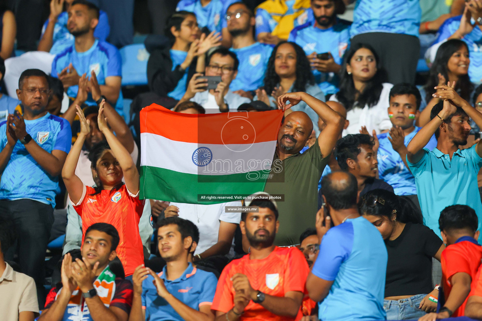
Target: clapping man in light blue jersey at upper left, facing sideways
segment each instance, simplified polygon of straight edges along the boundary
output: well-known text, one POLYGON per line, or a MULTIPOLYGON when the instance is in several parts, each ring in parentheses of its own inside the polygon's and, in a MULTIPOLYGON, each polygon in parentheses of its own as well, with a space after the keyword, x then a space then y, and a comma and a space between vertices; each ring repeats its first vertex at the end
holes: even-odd
MULTIPOLYGON (((99 8, 86 0, 75 0, 68 12, 67 28, 75 44, 57 54, 52 62, 52 76, 62 80, 69 97, 77 97, 79 79, 94 71, 103 97, 123 116, 121 59, 116 47, 95 39, 94 29, 99 21, 99 8)), ((91 85, 90 85, 91 86, 91 85)), ((85 102, 96 105, 92 96, 85 102)))

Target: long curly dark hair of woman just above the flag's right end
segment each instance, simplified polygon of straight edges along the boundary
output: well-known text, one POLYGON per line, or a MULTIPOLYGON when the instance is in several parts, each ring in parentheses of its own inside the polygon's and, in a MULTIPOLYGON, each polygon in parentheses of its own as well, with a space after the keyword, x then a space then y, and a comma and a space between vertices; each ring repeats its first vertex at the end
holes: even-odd
MULTIPOLYGON (((276 59, 276 52, 283 43, 289 43, 292 45, 296 52, 296 80, 293 84, 293 90, 306 91, 307 84, 313 85, 315 83, 315 77, 311 72, 311 67, 303 48, 291 41, 281 41, 271 52, 271 56, 268 60, 268 68, 266 68, 265 90, 268 95, 270 95, 274 88, 278 86, 281 80, 280 76, 278 76, 275 71, 274 61, 276 59)), ((285 89, 289 90, 289 88, 285 89)))

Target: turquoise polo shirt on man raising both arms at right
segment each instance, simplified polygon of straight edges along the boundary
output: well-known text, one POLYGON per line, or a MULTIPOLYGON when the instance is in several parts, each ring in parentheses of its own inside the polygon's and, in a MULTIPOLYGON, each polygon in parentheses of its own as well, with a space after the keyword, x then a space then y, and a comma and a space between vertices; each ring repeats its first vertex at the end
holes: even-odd
MULTIPOLYGON (((452 156, 443 154, 437 148, 424 154, 417 163, 408 167, 415 177, 418 200, 422 208, 425 225, 440 236, 440 212, 455 204, 469 205, 479 218, 479 230, 482 226, 482 203, 477 185, 477 173, 482 167, 482 158, 471 148, 458 149, 452 156)), ((482 233, 481 233, 482 234, 482 233)), ((482 242, 482 235, 479 237, 482 242)))

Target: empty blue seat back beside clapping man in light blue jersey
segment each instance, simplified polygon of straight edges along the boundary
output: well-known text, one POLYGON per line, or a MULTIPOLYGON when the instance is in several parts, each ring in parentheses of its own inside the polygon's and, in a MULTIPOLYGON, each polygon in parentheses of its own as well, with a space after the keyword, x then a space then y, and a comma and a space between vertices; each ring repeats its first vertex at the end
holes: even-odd
POLYGON ((127 45, 120 49, 122 57, 122 86, 147 85, 149 53, 144 44, 127 45))

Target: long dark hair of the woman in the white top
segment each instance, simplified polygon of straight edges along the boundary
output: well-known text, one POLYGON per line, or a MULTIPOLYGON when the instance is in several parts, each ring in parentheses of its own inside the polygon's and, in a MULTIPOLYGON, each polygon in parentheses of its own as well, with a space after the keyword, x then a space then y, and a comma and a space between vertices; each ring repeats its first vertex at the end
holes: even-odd
POLYGON ((372 107, 378 103, 378 100, 380 100, 384 80, 385 71, 373 47, 366 43, 357 43, 350 47, 343 58, 343 64, 340 70, 340 91, 338 91, 336 94, 336 98, 345 106, 347 111, 352 109, 355 103, 358 103, 358 106, 361 108, 363 108, 366 104, 368 104, 369 107, 372 107), (372 51, 373 55, 375 56, 376 73, 370 80, 367 81, 363 92, 358 92, 353 82, 353 76, 348 75, 347 64, 350 63, 355 52, 362 48, 372 51), (355 101, 356 94, 359 95, 358 99, 355 101))

